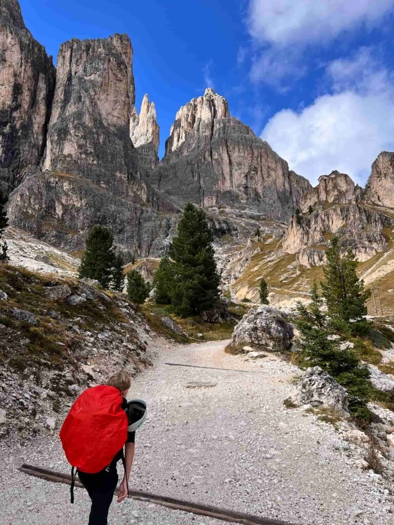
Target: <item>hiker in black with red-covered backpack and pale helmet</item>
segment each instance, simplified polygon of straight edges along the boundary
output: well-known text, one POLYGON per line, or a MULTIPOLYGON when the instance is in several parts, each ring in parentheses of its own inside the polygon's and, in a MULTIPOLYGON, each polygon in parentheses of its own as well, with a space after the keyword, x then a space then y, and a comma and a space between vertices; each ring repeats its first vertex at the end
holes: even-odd
POLYGON ((107 525, 118 484, 119 460, 125 474, 118 490, 118 503, 128 496, 136 429, 146 417, 146 404, 142 400, 126 400, 130 384, 128 374, 120 371, 109 378, 107 385, 88 388, 78 397, 60 430, 63 448, 72 465, 71 503, 76 467, 91 499, 89 525, 107 525))

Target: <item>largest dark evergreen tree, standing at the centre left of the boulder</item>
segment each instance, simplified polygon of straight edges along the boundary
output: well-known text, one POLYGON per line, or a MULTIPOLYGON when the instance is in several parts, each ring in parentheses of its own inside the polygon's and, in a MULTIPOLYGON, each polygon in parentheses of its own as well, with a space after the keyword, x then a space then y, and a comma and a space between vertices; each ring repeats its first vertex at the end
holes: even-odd
POLYGON ((171 302, 183 317, 209 309, 219 298, 212 241, 204 211, 186 204, 170 254, 174 260, 171 302))

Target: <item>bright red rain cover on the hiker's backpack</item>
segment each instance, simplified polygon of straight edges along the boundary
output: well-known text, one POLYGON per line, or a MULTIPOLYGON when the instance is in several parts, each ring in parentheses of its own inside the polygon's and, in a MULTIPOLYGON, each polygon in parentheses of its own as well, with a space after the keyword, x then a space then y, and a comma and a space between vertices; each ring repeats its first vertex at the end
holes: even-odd
POLYGON ((128 419, 122 396, 113 386, 88 388, 72 405, 59 437, 68 462, 96 474, 126 443, 128 419))

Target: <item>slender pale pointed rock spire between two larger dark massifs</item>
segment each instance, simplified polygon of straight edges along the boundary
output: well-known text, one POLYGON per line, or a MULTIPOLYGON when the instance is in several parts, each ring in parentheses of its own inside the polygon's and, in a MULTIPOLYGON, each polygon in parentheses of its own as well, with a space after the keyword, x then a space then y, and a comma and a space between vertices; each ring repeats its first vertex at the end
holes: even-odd
POLYGON ((130 138, 135 148, 143 144, 153 143, 155 152, 159 150, 159 124, 156 118, 154 102, 150 102, 148 95, 144 95, 140 114, 134 107, 130 119, 130 138))

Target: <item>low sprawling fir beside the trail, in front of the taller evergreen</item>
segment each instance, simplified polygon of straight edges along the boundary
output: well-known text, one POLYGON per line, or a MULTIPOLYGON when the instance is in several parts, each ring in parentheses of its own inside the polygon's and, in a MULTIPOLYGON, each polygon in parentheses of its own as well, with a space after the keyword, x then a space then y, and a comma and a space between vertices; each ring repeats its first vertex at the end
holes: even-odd
POLYGON ((305 366, 320 366, 344 386, 349 396, 349 409, 359 418, 368 417, 369 371, 361 366, 357 355, 341 348, 343 339, 335 332, 326 312, 322 311, 323 299, 319 296, 316 282, 311 292, 312 303, 305 307, 297 304, 295 320, 300 333, 305 366))

